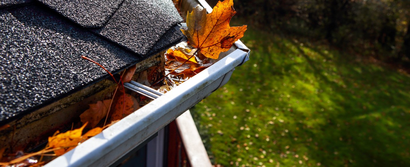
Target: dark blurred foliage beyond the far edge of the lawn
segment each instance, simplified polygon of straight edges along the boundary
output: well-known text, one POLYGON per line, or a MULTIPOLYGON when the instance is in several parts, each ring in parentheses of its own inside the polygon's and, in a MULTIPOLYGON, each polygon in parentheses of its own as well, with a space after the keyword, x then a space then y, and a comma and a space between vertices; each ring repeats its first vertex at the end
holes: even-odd
MULTIPOLYGON (((216 0, 207 0, 210 5, 216 0)), ((409 0, 236 0, 246 24, 410 65, 409 0), (381 53, 381 54, 380 54, 381 53)))

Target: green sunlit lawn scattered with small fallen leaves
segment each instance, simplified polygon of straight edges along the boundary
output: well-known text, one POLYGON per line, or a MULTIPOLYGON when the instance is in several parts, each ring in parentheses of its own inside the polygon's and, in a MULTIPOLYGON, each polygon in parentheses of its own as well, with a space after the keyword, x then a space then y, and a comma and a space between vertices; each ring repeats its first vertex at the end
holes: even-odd
POLYGON ((249 29, 251 60, 191 109, 215 164, 410 166, 410 77, 249 29))

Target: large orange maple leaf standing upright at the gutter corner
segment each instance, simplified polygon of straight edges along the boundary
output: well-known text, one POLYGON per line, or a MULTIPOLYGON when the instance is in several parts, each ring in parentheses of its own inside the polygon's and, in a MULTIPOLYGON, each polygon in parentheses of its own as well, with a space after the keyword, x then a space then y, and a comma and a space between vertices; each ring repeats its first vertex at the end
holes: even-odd
POLYGON ((219 1, 210 14, 206 14, 206 10, 198 5, 187 14, 188 30, 181 31, 200 53, 217 59, 219 53, 228 51, 235 41, 244 36, 246 25, 229 25, 235 14, 233 0, 219 1))

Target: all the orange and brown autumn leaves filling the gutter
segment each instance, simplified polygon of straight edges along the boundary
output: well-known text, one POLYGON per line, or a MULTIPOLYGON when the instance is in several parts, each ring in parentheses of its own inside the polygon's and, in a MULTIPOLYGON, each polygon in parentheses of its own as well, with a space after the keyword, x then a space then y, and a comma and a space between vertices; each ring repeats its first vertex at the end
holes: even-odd
MULTIPOLYGON (((187 14, 187 29, 182 30, 188 41, 169 48, 164 55, 166 59, 164 76, 151 85, 148 78, 155 78, 151 73, 155 70, 148 69, 140 73, 137 81, 165 93, 212 65, 214 62, 212 59, 217 59, 221 52, 228 51, 233 43, 244 35, 246 25, 229 26, 230 18, 235 13, 232 0, 219 2, 210 14, 199 5, 195 7, 187 14)), ((89 109, 80 115, 82 122, 80 128, 64 133, 55 132, 48 137, 48 144, 41 151, 35 153, 18 151, 3 157, 6 148, 0 149, 0 165, 19 167, 43 165, 46 162, 43 160, 44 156, 63 155, 138 110, 142 105, 149 103, 150 100, 145 96, 132 96, 125 91, 123 84, 132 80, 136 66, 120 73, 120 79, 116 80, 114 75, 102 65, 85 56, 82 58, 97 64, 112 76, 117 87, 110 98, 89 104, 89 109), (107 122, 111 123, 107 125, 107 122)))

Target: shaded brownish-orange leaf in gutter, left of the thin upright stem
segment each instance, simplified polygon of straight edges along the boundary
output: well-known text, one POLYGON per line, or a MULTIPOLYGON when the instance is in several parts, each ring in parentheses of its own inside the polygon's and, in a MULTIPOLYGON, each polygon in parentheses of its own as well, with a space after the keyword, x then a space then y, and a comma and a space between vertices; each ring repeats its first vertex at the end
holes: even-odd
POLYGON ((108 113, 109 105, 112 99, 97 101, 95 104, 89 104, 90 108, 85 110, 81 115, 80 119, 83 124, 89 122, 91 128, 97 126, 101 119, 105 118, 108 113))

